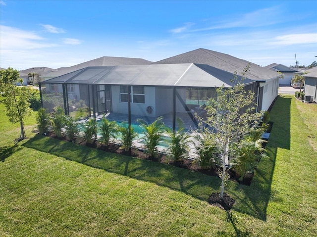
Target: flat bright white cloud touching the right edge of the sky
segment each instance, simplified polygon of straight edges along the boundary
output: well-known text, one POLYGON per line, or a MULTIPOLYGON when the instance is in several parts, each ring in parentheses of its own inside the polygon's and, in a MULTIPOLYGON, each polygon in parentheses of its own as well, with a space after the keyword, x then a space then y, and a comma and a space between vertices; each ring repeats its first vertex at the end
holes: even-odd
POLYGON ((317 33, 311 34, 290 34, 282 35, 274 38, 271 45, 303 45, 317 44, 317 33))

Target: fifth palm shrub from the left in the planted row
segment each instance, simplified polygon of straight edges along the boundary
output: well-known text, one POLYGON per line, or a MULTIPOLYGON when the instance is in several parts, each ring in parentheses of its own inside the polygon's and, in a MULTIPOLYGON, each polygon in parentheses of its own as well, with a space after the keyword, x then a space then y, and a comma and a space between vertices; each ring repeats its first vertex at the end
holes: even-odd
POLYGON ((100 141, 108 145, 110 139, 115 139, 118 133, 118 125, 115 121, 109 121, 103 117, 99 123, 100 141))

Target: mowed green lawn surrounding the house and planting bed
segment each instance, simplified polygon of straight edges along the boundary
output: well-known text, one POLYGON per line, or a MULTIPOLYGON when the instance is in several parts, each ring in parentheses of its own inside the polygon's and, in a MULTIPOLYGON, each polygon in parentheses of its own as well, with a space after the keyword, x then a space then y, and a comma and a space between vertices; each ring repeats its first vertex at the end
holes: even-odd
POLYGON ((252 185, 228 182, 230 213, 207 203, 217 177, 36 135, 34 115, 15 144, 3 109, 0 236, 317 235, 317 106, 294 96, 273 106, 270 159, 252 185))

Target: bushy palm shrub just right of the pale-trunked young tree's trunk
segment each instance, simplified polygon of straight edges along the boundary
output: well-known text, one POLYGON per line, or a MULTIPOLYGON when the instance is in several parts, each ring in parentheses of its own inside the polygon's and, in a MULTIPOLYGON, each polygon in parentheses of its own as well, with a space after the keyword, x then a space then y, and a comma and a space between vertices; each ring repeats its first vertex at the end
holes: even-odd
POLYGON ((246 173, 254 171, 262 158, 269 158, 265 154, 266 150, 262 147, 263 142, 265 141, 262 139, 254 141, 253 138, 247 137, 240 142, 238 147, 235 147, 238 157, 233 159, 231 166, 239 180, 243 180, 246 173))

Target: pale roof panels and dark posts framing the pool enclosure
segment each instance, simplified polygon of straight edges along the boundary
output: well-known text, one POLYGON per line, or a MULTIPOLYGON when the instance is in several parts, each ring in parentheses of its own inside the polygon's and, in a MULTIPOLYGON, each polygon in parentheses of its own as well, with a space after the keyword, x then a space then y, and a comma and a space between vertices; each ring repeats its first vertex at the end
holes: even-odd
MULTIPOLYGON (((41 104, 43 96, 41 84, 61 84, 65 114, 69 115, 67 85, 86 85, 90 93, 91 85, 127 86, 128 88, 128 123, 131 125, 131 87, 163 87, 172 89, 172 129, 176 129, 176 93, 177 89, 215 88, 224 85, 232 87, 232 73, 213 68, 205 64, 156 64, 88 67, 39 83, 41 104), (94 73, 89 74, 89 69, 94 73), (85 76, 85 73, 88 74, 85 76), (126 83, 117 83, 117 78, 126 83), (221 80, 218 78, 222 78, 221 80), (158 80, 159 79, 159 80, 158 80), (211 85, 211 81, 214 86, 211 85), (150 81, 150 82, 149 82, 150 81), (107 83, 105 83, 107 82, 107 83), (167 85, 164 85, 167 84, 167 85), (208 86, 206 84, 209 84, 208 86), (231 85, 230 85, 231 84, 231 85)), ((240 77, 241 78, 241 77, 240 77)), ((255 80, 245 79, 244 86, 255 84, 255 80)), ((92 87, 94 88, 94 87, 92 87)), ((256 94, 257 90, 254 90, 256 94)), ((259 96, 259 95, 256 95, 259 96)), ((89 96, 90 97, 90 96, 89 96)), ((89 98, 90 99, 90 98, 89 98)), ((93 117, 96 117, 96 104, 93 101, 93 117)), ((89 106, 89 109, 91 106, 89 106)), ((91 111, 90 111, 91 116, 91 111)))

